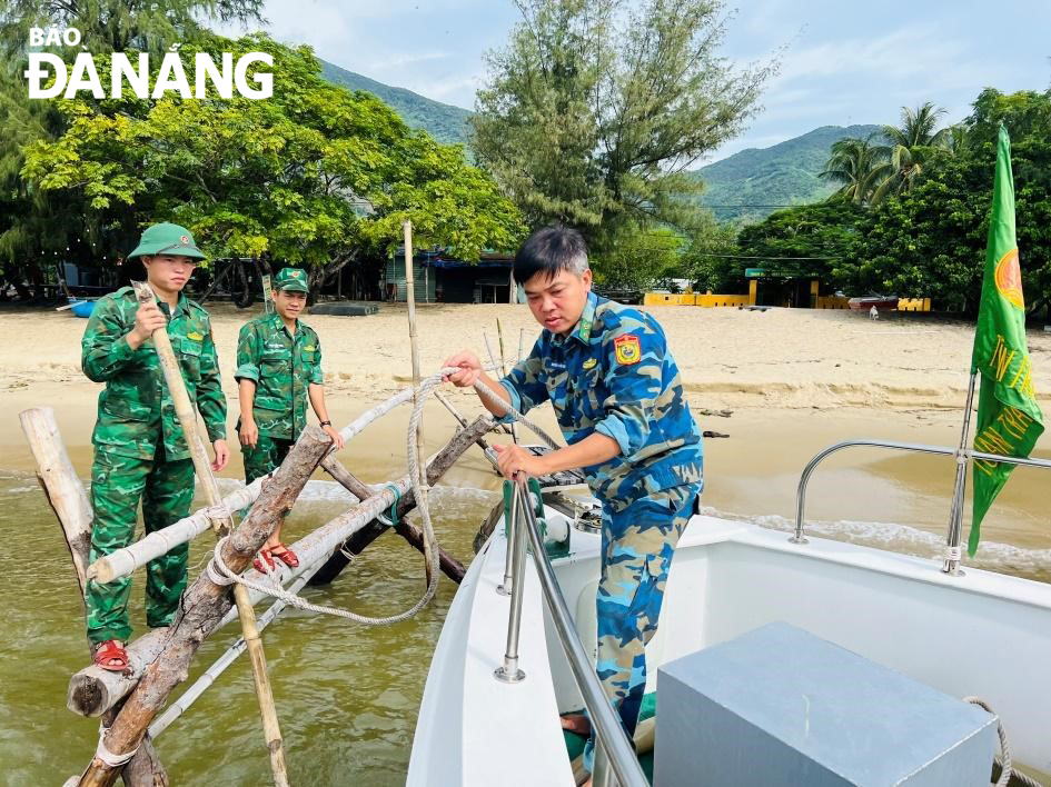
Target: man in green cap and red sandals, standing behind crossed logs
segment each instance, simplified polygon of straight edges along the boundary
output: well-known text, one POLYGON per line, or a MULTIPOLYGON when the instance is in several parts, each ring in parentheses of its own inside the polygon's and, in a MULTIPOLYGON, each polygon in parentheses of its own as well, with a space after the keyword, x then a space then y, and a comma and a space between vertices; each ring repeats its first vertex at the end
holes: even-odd
MULTIPOLYGON (((241 328, 237 340, 238 399, 241 417, 237 435, 245 457, 245 480, 251 484, 272 472, 307 425, 307 400, 321 428, 343 448, 325 406, 321 343, 299 319, 307 305, 307 273, 284 268, 274 279, 275 313, 262 315, 241 328)), ((274 568, 274 559, 295 568, 296 554, 281 542, 281 527, 271 534, 255 561, 274 568)))

